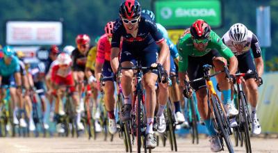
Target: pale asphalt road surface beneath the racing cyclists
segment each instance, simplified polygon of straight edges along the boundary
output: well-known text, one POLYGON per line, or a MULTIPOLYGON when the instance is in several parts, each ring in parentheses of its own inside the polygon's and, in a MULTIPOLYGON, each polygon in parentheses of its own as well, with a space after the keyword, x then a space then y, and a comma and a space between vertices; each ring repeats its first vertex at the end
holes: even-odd
MULTIPOLYGON (((234 142, 234 141, 233 141, 234 142)), ((160 143, 161 144, 161 143, 160 143)), ((193 145, 190 138, 177 138, 178 152, 210 152, 208 138, 201 138, 199 145, 193 145)), ((245 152, 244 147, 234 147, 235 152, 245 152)), ((113 142, 88 138, 0 138, 0 153, 89 153, 89 152, 124 152, 122 139, 115 136, 113 142)), ((133 147, 136 152, 136 145, 133 147)), ((166 146, 158 146, 152 152, 172 152, 166 146)), ((227 152, 224 151, 224 152, 227 152)), ((252 152, 278 152, 278 138, 252 138, 252 152)))

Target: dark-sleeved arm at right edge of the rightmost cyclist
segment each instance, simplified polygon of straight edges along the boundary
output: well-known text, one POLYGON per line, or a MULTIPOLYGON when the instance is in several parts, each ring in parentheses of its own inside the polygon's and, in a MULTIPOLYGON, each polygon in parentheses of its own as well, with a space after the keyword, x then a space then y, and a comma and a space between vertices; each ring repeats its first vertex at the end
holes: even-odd
POLYGON ((252 35, 251 49, 253 51, 254 61, 256 64, 256 72, 258 72, 259 77, 261 77, 263 75, 263 58, 261 56, 259 40, 254 34, 252 35))

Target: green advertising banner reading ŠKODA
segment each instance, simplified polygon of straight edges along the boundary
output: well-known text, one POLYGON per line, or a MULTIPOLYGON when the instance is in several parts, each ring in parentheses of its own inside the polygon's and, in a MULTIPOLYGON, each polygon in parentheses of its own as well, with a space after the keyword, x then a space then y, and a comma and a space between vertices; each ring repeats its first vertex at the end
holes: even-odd
POLYGON ((204 19, 212 27, 222 25, 221 0, 156 0, 153 1, 156 22, 167 29, 190 26, 204 19))

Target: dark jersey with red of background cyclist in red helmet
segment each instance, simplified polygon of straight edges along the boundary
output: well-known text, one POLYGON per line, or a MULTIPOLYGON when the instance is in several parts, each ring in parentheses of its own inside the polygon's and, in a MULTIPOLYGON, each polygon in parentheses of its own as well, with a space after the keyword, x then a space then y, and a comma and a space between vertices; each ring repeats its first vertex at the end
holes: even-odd
MULTIPOLYGON (((92 47, 90 47, 90 49, 92 49, 92 47)), ((76 49, 74 49, 74 51, 72 51, 72 58, 73 58, 72 68, 74 71, 85 71, 87 56, 89 54, 90 49, 85 54, 82 54, 78 48, 76 48, 76 49)))

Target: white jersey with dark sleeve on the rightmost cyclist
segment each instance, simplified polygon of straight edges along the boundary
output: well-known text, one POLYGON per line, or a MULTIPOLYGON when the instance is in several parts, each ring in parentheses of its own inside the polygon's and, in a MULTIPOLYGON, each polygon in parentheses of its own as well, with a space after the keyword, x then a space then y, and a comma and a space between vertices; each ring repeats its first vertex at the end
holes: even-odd
POLYGON ((233 51, 235 56, 245 54, 247 51, 250 51, 250 49, 252 49, 254 58, 261 57, 261 47, 259 45, 259 40, 256 38, 256 35, 252 33, 252 31, 247 31, 247 41, 242 42, 244 45, 242 51, 238 51, 234 46, 234 42, 229 37, 229 31, 227 31, 227 33, 223 35, 222 41, 225 45, 227 45, 227 47, 231 49, 231 51, 233 51))

